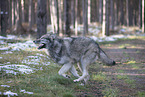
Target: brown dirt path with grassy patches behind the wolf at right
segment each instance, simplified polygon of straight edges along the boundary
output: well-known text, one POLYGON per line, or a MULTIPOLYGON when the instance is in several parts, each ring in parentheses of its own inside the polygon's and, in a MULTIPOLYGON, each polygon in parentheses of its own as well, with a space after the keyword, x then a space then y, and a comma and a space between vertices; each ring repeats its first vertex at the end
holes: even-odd
POLYGON ((114 89, 118 90, 119 97, 145 96, 145 40, 119 40, 112 43, 100 43, 100 46, 109 57, 116 61, 117 65, 102 66, 98 70, 90 68, 89 72, 98 74, 98 71, 101 71, 110 81, 98 82, 91 78, 88 91, 81 91, 77 96, 102 97, 104 91, 113 93, 114 89), (106 87, 113 90, 107 90, 106 87))

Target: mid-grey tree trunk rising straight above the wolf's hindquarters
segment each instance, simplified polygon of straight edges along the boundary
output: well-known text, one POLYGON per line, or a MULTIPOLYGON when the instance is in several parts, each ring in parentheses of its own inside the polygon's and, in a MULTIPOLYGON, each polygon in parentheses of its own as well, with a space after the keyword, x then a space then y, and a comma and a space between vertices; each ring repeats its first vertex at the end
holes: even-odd
POLYGON ((83 6, 83 36, 88 34, 88 0, 82 0, 83 6))

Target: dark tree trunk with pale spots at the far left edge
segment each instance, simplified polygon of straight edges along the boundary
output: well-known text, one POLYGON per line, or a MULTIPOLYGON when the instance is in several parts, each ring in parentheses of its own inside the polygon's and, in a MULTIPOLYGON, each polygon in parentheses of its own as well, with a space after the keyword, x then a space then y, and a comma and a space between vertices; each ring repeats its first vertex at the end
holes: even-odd
POLYGON ((1 6, 1 32, 0 35, 6 36, 6 30, 8 25, 8 18, 9 18, 9 7, 7 6, 9 4, 8 0, 1 0, 0 6, 1 6))

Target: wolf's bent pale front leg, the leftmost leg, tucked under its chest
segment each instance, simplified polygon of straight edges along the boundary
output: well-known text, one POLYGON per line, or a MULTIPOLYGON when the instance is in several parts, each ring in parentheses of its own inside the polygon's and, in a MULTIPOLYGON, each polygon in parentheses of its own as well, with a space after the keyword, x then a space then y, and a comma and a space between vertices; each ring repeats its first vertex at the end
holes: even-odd
POLYGON ((59 70, 58 74, 65 77, 65 78, 70 78, 69 75, 65 74, 67 71, 70 70, 70 68, 72 67, 72 64, 71 63, 67 63, 67 64, 64 64, 61 69, 59 70))

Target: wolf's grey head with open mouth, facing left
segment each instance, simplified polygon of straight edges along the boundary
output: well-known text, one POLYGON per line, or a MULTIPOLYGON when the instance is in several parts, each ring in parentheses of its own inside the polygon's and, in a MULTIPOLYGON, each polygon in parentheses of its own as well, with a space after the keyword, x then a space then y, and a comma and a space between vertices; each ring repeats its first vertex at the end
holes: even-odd
POLYGON ((55 34, 45 34, 41 38, 34 40, 35 44, 40 44, 38 49, 46 48, 57 36, 55 34))

